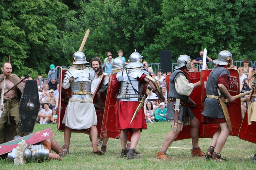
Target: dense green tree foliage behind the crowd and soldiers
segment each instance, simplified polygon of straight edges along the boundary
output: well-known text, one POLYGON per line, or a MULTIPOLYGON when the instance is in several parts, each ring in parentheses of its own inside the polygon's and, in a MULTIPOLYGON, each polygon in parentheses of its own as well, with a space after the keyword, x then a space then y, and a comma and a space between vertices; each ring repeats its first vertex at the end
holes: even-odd
POLYGON ((213 59, 227 49, 235 60, 256 60, 256 0, 8 0, 0 9, 0 61, 10 55, 18 76, 71 65, 87 29, 87 61, 119 49, 127 60, 137 49, 154 63, 160 50, 175 60, 203 48, 213 59))

